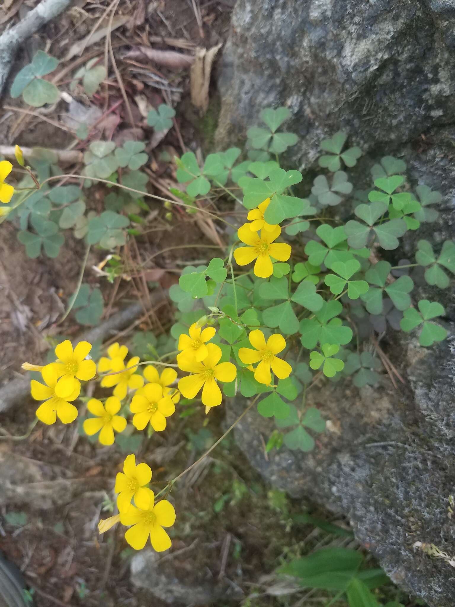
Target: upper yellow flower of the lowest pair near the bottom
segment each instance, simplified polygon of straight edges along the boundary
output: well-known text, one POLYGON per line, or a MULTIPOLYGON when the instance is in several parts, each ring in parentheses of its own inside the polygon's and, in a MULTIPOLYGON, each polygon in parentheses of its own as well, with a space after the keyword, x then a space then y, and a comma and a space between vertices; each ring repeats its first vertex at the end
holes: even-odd
POLYGON ((152 480, 152 470, 145 463, 136 466, 134 453, 128 455, 123 463, 123 472, 118 472, 115 478, 115 493, 119 512, 127 512, 131 499, 138 508, 147 510, 150 506, 150 490, 144 486, 152 480))

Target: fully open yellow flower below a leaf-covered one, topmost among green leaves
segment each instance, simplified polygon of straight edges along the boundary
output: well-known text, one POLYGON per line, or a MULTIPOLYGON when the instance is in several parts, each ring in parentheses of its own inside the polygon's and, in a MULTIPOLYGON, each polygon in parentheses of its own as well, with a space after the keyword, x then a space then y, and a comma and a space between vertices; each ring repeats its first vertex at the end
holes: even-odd
POLYGON ((241 242, 249 246, 241 246, 235 249, 234 259, 238 265, 247 265, 256 260, 254 273, 260 278, 268 278, 274 270, 273 257, 280 262, 285 262, 291 257, 291 246, 284 242, 274 242, 280 236, 280 226, 275 226, 273 231, 268 232, 261 229, 260 235, 253 232, 248 223, 238 228, 237 236, 241 242))

